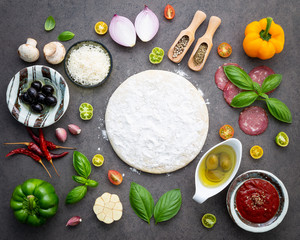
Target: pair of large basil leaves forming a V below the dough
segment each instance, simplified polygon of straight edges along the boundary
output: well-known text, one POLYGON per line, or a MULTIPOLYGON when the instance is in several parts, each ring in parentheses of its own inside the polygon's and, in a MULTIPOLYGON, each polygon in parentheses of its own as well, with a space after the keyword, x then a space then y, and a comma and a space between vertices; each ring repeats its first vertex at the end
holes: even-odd
POLYGON ((180 189, 173 189, 163 194, 154 206, 151 193, 135 182, 130 186, 129 201, 135 214, 149 224, 153 214, 155 223, 170 220, 178 213, 182 202, 180 189))

